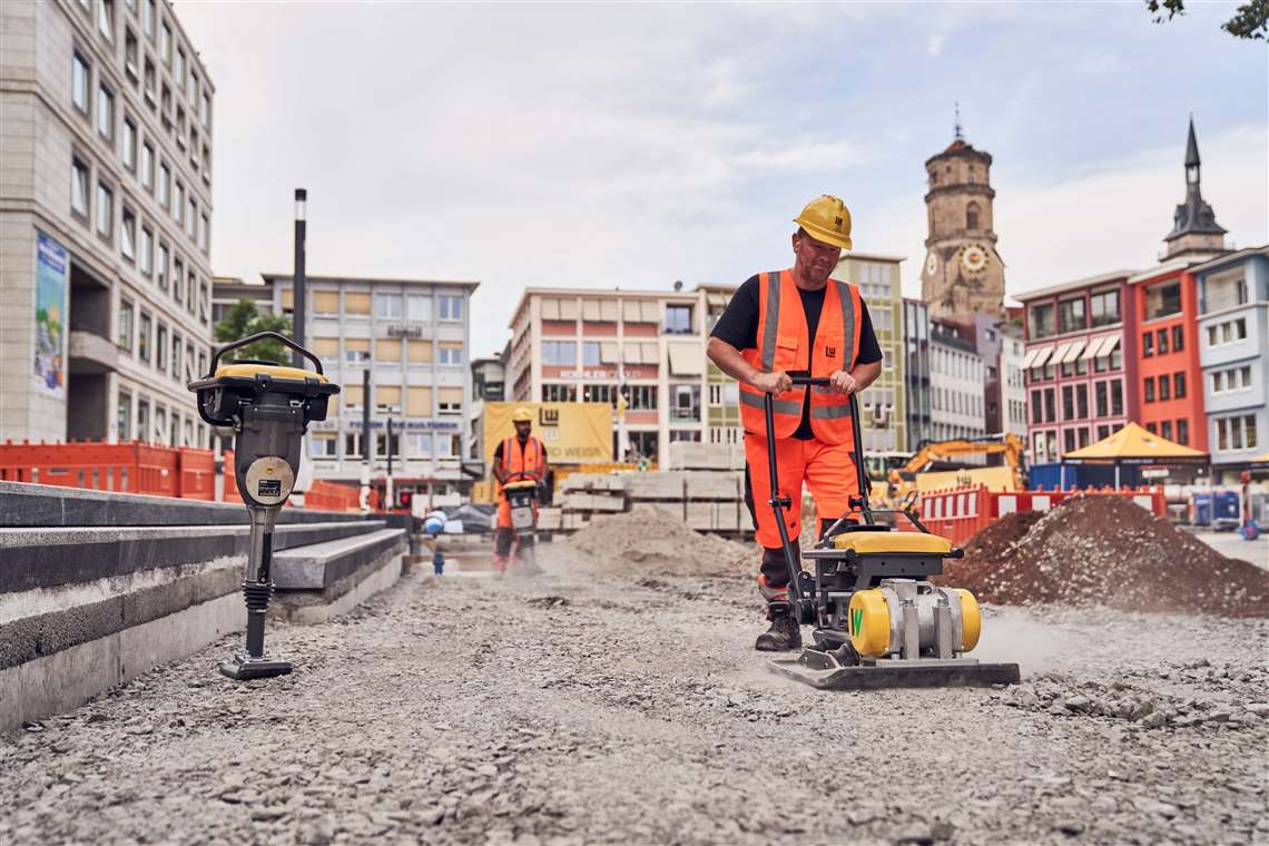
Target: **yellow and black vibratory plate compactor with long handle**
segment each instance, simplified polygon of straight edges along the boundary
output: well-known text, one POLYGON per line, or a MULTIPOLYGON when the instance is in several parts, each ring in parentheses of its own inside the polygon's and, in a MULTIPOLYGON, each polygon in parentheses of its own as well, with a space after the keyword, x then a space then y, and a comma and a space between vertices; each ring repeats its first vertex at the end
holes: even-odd
MULTIPOLYGON (((827 379, 793 377, 794 386, 826 388, 827 379)), ((978 643, 981 616, 970 591, 931 585, 944 558, 959 558, 945 539, 902 514, 919 531, 892 531, 876 521, 868 505, 868 477, 860 450, 859 403, 850 397, 859 497, 803 557, 802 569, 784 510, 797 507, 779 493, 772 396, 766 394, 766 454, 775 512, 789 571, 789 604, 798 623, 815 625, 813 646, 796 661, 772 661, 772 671, 822 690, 1008 685, 1019 680, 1016 663, 980 663, 966 653, 978 643), (862 523, 855 520, 858 514, 862 523)))

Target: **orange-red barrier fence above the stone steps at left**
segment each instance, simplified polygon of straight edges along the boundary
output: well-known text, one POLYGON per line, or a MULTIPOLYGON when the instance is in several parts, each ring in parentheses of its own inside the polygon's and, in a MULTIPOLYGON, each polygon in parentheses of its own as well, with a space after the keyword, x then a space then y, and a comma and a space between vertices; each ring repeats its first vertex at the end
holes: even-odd
MULTIPOLYGON (((241 502, 233 478, 233 453, 223 453, 223 502, 241 502)), ((131 441, 100 444, 0 444, 0 481, 77 487, 114 493, 216 500, 216 455, 209 449, 131 441)), ((358 510, 358 491, 313 479, 305 507, 321 511, 358 510)))

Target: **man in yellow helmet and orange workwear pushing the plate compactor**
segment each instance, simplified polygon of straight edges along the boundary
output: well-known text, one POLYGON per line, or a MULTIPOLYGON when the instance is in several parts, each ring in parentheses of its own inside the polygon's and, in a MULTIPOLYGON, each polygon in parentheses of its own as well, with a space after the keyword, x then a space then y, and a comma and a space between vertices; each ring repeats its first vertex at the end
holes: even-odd
POLYGON ((770 628, 754 648, 775 652, 802 646, 788 601, 788 567, 772 498, 764 394, 773 394, 775 462, 794 554, 801 554, 802 483, 815 498, 820 531, 859 495, 850 425, 853 393, 881 373, 881 348, 859 289, 830 279, 850 249, 850 212, 836 197, 820 197, 799 214, 793 266, 745 282, 714 325, 709 359, 740 382, 745 426, 745 501, 763 548, 759 592, 770 628), (829 388, 793 388, 789 373, 827 378, 829 388))

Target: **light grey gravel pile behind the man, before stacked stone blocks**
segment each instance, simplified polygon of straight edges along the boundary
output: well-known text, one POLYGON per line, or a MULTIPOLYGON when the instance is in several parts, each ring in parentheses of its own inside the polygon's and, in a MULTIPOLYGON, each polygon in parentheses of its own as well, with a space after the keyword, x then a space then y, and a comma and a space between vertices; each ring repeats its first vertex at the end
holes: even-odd
POLYGON ((652 505, 596 515, 566 543, 577 559, 574 566, 600 572, 706 576, 758 569, 753 547, 694 531, 673 511, 652 505))

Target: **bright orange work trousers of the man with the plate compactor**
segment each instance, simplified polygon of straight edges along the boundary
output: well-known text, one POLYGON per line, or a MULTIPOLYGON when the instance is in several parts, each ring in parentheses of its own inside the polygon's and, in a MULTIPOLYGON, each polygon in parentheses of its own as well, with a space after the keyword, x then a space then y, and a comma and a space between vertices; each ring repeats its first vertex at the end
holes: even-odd
MULTIPOLYGON (((859 479, 850 455, 851 444, 826 444, 819 438, 798 440, 784 438, 775 441, 775 471, 780 496, 792 506, 784 510, 784 523, 789 540, 794 543, 802 533, 802 483, 815 500, 819 521, 836 520, 850 505, 850 497, 859 496, 859 479)), ((772 511, 770 471, 766 465, 766 438, 745 434, 745 460, 749 464, 749 483, 754 496, 755 537, 765 549, 780 548, 780 530, 772 511)), ((783 580, 782 580, 783 581, 783 580)))

